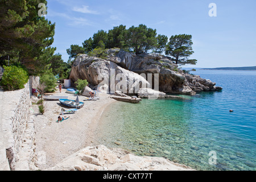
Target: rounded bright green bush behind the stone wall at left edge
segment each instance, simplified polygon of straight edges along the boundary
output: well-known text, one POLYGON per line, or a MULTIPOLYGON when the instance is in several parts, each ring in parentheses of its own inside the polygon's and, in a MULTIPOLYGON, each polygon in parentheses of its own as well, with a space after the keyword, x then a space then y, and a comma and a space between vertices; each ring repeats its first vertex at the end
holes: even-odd
POLYGON ((24 69, 16 67, 15 65, 5 67, 3 72, 1 85, 5 90, 18 90, 23 89, 28 81, 28 74, 24 69))

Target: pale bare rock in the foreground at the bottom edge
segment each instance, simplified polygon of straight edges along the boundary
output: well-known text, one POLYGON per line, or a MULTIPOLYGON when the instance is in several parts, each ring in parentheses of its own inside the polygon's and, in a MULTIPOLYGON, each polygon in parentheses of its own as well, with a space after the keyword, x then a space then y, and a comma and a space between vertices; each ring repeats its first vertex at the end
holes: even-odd
POLYGON ((121 148, 86 147, 47 171, 192 171, 168 159, 137 156, 121 148))

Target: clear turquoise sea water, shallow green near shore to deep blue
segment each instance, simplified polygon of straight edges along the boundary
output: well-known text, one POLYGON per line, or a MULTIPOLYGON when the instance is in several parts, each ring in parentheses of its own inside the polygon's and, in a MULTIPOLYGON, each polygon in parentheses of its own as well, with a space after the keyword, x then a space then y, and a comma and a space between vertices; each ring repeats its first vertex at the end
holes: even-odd
POLYGON ((199 170, 255 170, 256 72, 192 73, 223 90, 180 95, 188 100, 115 102, 102 114, 97 142, 199 170), (216 164, 209 163, 210 151, 216 154, 216 164))

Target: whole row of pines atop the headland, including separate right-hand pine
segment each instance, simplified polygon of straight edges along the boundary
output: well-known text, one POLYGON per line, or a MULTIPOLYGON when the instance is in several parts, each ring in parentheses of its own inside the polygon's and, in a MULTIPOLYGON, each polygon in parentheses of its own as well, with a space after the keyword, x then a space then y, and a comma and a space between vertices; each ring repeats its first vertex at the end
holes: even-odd
POLYGON ((108 32, 99 30, 82 43, 82 46, 71 45, 67 49, 69 59, 76 58, 80 53, 88 53, 89 56, 106 57, 104 49, 120 48, 125 51, 141 53, 163 53, 171 56, 175 64, 196 64, 195 59, 188 59, 192 55, 192 36, 171 36, 169 42, 166 35, 158 35, 155 29, 148 28, 144 24, 138 27, 131 26, 126 29, 122 24, 113 27, 108 32), (168 43, 167 43, 168 42, 168 43))

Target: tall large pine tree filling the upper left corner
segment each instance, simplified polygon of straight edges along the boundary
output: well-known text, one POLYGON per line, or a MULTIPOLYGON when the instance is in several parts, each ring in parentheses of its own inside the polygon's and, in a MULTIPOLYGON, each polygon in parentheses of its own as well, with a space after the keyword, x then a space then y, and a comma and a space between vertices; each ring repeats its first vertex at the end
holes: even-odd
POLYGON ((18 61, 31 75, 42 71, 40 57, 53 43, 55 23, 39 16, 39 3, 46 0, 1 0, 0 6, 0 61, 18 61))

